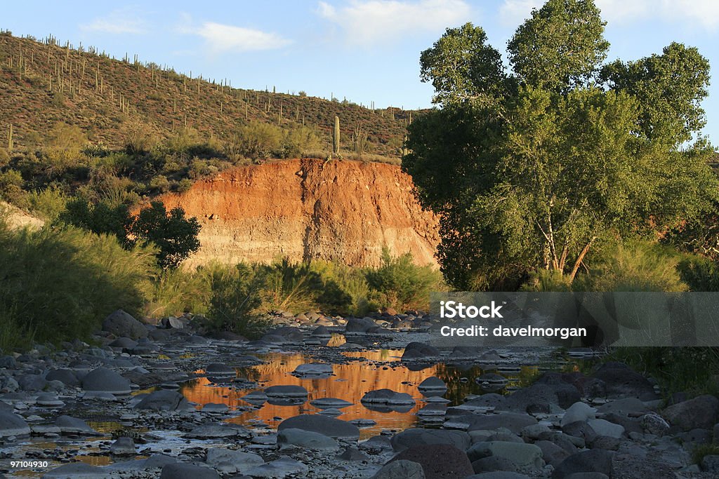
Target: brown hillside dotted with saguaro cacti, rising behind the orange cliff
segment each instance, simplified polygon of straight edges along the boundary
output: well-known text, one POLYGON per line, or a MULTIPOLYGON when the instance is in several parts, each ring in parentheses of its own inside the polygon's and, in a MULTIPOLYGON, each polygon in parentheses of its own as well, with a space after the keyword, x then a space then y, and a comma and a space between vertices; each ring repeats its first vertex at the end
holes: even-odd
POLYGON ((0 90, 0 137, 6 139, 12 125, 13 147, 20 151, 40 146, 58 121, 79 126, 91 142, 110 148, 124 147, 132 122, 146 124, 160 138, 188 127, 206 139, 229 141, 238 126, 259 121, 283 129, 304 125, 328 149, 339 116, 344 148, 352 149, 359 128, 367 134, 367 153, 397 157, 411 121, 411 113, 399 108, 371 110, 273 88, 231 88, 226 80, 177 73, 140 63, 137 56, 114 60, 93 48, 60 46, 52 37, 39 42, 9 32, 0 34, 0 90))

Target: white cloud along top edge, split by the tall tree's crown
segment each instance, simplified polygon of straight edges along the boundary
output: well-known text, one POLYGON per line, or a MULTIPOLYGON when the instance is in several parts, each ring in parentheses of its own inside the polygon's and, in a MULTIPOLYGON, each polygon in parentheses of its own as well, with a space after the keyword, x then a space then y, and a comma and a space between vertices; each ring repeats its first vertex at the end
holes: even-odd
MULTIPOLYGON (((636 22, 662 20, 664 22, 699 25, 714 30, 719 27, 717 0, 595 0, 608 22, 636 22)), ((500 21, 516 27, 539 8, 544 0, 504 0, 500 6, 500 21)))

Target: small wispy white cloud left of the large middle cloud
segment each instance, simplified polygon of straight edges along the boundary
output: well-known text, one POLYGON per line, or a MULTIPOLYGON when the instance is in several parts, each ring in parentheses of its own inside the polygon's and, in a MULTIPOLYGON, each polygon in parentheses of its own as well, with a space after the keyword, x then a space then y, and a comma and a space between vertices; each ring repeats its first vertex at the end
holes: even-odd
POLYGON ((205 39, 207 46, 214 53, 221 52, 255 52, 258 50, 275 50, 286 47, 291 40, 262 30, 235 27, 216 22, 203 22, 193 25, 192 17, 180 14, 180 24, 176 30, 183 34, 194 34, 205 39))

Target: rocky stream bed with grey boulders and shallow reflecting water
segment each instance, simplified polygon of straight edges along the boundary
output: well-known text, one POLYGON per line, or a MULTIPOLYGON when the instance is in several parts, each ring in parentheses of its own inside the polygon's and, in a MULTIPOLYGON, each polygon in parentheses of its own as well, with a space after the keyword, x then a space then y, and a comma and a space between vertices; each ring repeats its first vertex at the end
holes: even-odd
POLYGON ((413 313, 277 316, 248 341, 198 335, 189 317, 153 326, 116 312, 97 345, 0 358, 1 468, 47 478, 715 477, 719 458, 699 457, 714 452, 714 396, 665 407, 654 381, 621 363, 557 372, 588 350, 437 350, 427 343, 438 320, 413 313))

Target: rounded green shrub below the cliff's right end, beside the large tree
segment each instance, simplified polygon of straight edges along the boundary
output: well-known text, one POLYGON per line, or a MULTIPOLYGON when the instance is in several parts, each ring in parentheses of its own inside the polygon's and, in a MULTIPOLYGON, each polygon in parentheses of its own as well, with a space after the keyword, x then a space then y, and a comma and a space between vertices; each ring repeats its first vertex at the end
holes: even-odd
POLYGON ((367 283, 378 304, 401 310, 426 310, 429 293, 444 289, 439 271, 429 265, 417 266, 409 253, 393 257, 388 248, 382 251, 382 264, 367 271, 367 283))

